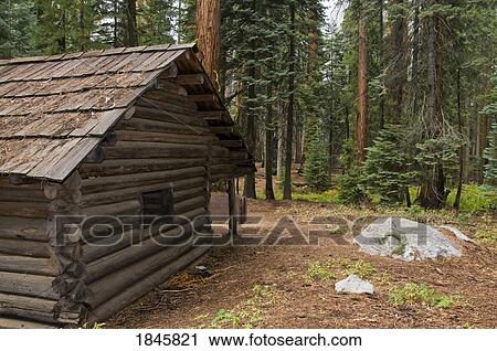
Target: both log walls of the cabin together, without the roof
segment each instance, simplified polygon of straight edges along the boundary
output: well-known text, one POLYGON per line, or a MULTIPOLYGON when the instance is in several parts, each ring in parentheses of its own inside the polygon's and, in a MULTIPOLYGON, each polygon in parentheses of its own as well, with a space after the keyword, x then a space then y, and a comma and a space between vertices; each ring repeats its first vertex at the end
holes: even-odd
POLYGON ((236 156, 183 95, 146 94, 63 184, 0 178, 0 327, 105 320, 207 253, 192 241, 236 156), (144 193, 165 189, 176 217, 144 231, 144 193), (72 230, 61 215, 78 216, 72 230), (105 225, 78 222, 92 216, 105 225))

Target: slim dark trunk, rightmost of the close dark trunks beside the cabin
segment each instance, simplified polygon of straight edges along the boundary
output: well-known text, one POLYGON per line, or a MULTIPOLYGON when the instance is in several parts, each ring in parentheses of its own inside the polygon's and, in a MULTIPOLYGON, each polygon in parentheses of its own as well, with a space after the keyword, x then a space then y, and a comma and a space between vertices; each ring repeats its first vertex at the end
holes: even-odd
POLYGON ((294 141, 294 109, 295 109, 295 4, 289 6, 290 38, 289 38, 289 75, 288 75, 288 111, 286 121, 286 157, 285 179, 283 182, 283 200, 292 200, 292 166, 294 141))

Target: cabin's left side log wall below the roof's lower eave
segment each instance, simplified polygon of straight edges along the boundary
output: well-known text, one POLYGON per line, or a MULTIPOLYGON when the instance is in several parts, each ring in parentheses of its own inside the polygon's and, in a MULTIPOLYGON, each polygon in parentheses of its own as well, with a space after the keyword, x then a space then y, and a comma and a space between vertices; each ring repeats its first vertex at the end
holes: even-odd
POLYGON ((0 178, 0 328, 80 321, 80 309, 60 304, 64 264, 50 237, 56 203, 45 185, 13 185, 0 178))

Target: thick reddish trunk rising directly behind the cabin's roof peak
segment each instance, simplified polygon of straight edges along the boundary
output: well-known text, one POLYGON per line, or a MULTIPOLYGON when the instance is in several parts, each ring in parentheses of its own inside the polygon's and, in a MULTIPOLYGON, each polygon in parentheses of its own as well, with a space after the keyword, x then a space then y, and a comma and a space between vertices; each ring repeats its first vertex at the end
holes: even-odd
POLYGON ((221 61, 221 1, 197 1, 197 40, 202 64, 215 88, 219 88, 221 61))

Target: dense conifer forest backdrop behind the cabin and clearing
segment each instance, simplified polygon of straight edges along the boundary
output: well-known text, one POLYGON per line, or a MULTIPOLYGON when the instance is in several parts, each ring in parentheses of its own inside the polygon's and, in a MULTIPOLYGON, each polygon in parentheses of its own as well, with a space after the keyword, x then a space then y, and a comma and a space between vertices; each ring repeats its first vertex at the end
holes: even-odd
POLYGON ((341 202, 426 209, 497 187, 496 1, 332 1, 342 21, 325 4, 4 0, 0 59, 198 42, 268 200, 297 173, 341 202))

